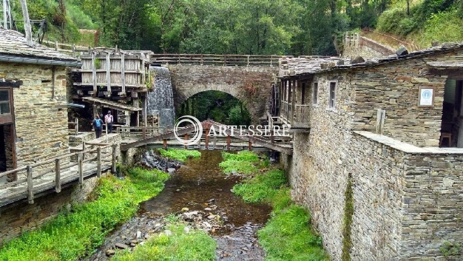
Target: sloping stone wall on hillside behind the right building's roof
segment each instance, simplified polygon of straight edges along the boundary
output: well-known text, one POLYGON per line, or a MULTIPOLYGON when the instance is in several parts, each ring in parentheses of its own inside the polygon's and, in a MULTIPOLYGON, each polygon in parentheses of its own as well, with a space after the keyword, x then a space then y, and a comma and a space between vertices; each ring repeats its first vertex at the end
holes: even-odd
POLYGON ((365 59, 382 58, 394 54, 394 48, 382 45, 375 40, 360 36, 358 43, 354 45, 344 45, 343 58, 354 59, 363 57, 365 59))

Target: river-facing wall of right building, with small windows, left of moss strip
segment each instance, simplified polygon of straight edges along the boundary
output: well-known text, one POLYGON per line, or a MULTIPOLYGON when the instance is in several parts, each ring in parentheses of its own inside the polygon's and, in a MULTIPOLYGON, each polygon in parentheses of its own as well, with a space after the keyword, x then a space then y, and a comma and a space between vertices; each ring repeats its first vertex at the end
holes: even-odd
MULTIPOLYGON (((350 76, 320 74, 318 104, 309 109, 310 134, 294 134, 290 185, 294 200, 306 206, 312 222, 323 238, 332 260, 340 260, 344 192, 348 172, 344 159, 349 152, 354 93, 350 76), (336 108, 328 108, 330 81, 337 81, 336 108)), ((311 85, 309 85, 311 86, 311 85)), ((311 93, 312 89, 308 89, 311 93)), ((312 95, 307 104, 312 104, 312 95)))

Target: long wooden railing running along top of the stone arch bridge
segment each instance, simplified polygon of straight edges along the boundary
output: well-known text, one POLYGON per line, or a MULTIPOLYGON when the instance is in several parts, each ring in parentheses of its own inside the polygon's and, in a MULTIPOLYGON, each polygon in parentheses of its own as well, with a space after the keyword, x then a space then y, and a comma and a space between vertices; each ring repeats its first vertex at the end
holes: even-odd
MULTIPOLYGON (((280 55, 153 54, 152 64, 278 66, 280 55)), ((292 57, 292 56, 288 56, 292 57)))

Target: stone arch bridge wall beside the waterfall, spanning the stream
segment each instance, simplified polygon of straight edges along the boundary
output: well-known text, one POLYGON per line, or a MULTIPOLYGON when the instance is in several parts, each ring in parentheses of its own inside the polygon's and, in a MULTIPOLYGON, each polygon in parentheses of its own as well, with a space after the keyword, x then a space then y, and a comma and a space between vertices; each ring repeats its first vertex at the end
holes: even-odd
POLYGON ((181 106, 189 97, 207 90, 219 90, 246 104, 251 120, 259 122, 269 101, 271 83, 278 67, 265 66, 168 66, 174 89, 174 104, 181 106))

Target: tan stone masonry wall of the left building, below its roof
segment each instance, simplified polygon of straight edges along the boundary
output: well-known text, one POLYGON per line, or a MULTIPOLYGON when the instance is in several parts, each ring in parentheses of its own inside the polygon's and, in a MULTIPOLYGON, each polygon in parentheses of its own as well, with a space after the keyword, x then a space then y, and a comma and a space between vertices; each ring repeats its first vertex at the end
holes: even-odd
POLYGON ((65 67, 0 63, 0 78, 23 81, 13 88, 18 166, 68 152, 65 67))

